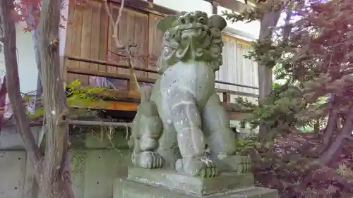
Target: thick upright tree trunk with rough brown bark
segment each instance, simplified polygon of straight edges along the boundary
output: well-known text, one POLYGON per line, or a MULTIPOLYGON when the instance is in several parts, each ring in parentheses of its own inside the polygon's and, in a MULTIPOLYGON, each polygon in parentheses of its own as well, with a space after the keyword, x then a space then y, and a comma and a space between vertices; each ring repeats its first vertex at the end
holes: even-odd
POLYGON ((73 197, 68 166, 68 108, 59 67, 60 8, 61 1, 43 1, 37 29, 47 137, 41 198, 73 197))

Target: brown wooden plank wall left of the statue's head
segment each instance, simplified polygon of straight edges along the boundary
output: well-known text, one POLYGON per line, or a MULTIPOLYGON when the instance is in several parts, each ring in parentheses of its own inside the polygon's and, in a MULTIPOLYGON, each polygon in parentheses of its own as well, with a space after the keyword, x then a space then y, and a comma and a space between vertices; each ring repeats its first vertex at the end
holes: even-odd
MULTIPOLYGON (((116 20, 119 6, 109 4, 110 13, 116 20)), ((134 58, 133 64, 137 68, 136 75, 144 78, 155 78, 155 74, 138 71, 138 68, 155 69, 155 58, 160 54, 162 32, 155 28, 162 16, 153 13, 137 11, 133 8, 124 8, 117 35, 121 44, 131 41, 137 47, 131 49, 134 58), (154 63, 150 63, 154 62, 154 63)), ((104 4, 98 1, 90 1, 85 5, 73 5, 68 8, 68 30, 66 35, 65 56, 90 58, 100 61, 112 61, 121 65, 127 65, 124 57, 117 56, 121 53, 116 48, 112 38, 114 30, 109 22, 104 4)), ((114 66, 103 66, 93 63, 78 61, 66 61, 68 68, 75 70, 100 71, 101 73, 116 73, 128 75, 128 70, 114 66)), ((87 75, 68 74, 67 81, 80 79, 83 85, 90 85, 87 75)), ((126 89, 126 80, 114 80, 114 87, 126 89)))

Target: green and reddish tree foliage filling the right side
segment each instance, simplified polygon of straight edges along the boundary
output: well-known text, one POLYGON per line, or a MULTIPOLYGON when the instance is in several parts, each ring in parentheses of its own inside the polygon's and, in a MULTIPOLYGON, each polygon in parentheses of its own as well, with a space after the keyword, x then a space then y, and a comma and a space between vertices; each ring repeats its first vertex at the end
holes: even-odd
MULTIPOLYGON (((353 147, 337 141, 340 135, 349 135, 342 133, 346 127, 335 125, 343 120, 341 124, 349 126, 347 120, 353 113, 353 1, 291 3, 300 19, 292 23, 290 37, 253 42, 254 50, 248 56, 273 68, 282 83, 273 86, 263 106, 237 99, 254 115, 246 122, 253 127, 260 120, 265 123, 270 143, 256 147, 241 140, 238 152, 252 156, 258 183, 276 188, 282 197, 352 197, 353 147), (335 135, 324 139, 330 134, 327 120, 332 111, 342 120, 333 122, 334 130, 329 132, 335 135), (323 140, 335 143, 325 146, 326 152, 337 142, 342 149, 325 156, 320 151, 323 140), (325 158, 330 163, 323 163, 325 158)), ((228 14, 228 18, 250 21, 262 16, 256 9, 249 12, 228 14)))

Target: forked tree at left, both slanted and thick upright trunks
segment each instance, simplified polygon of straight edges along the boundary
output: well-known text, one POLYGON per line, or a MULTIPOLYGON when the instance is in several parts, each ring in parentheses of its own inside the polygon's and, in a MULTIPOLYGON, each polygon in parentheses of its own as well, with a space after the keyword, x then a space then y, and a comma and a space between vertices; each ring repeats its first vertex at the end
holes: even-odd
POLYGON ((40 30, 40 75, 44 83, 44 109, 46 116, 47 146, 44 161, 25 115, 20 95, 16 57, 16 27, 11 16, 13 1, 0 1, 0 17, 4 29, 4 57, 6 85, 16 127, 23 139, 28 157, 35 167, 35 178, 40 184, 43 198, 72 198, 68 149, 68 123, 66 122, 66 97, 59 68, 60 1, 44 1, 40 30))

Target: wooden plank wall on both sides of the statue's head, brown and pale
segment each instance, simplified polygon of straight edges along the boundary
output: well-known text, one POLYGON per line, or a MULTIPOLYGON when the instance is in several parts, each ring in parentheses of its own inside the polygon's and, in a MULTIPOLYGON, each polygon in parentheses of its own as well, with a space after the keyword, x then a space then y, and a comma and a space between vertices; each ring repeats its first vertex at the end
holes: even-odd
MULTIPOLYGON (((109 23, 109 17, 104 9, 104 4, 99 1, 89 1, 90 4, 70 5, 68 11, 68 30, 66 35, 66 56, 90 58, 100 61, 112 61, 127 66, 126 58, 117 56, 119 50, 112 39, 113 28, 109 23)), ((109 3, 110 13, 116 20, 119 13, 119 5, 109 3)), ((125 7, 118 27, 118 37, 121 44, 131 41, 137 44, 133 48, 136 58, 133 64, 136 68, 156 69, 157 56, 159 56, 162 44, 162 32, 157 30, 156 23, 162 16, 147 11, 139 11, 125 7)), ((224 64, 217 72, 217 80, 258 87, 257 65, 253 61, 243 57, 250 50, 248 44, 224 36, 225 48, 223 53, 224 64)), ((120 51, 121 52, 121 51, 120 51)), ((66 61, 66 66, 71 70, 90 70, 92 73, 109 74, 109 76, 121 75, 128 77, 128 69, 114 66, 103 66, 93 63, 78 61, 66 61)), ((156 78, 157 74, 136 71, 139 78, 156 78)), ((92 77, 87 75, 68 74, 67 81, 79 78, 83 85, 92 85, 92 77)), ((128 79, 128 78, 127 78, 128 79)), ((112 80, 114 88, 128 89, 128 80, 112 80)), ((217 84, 217 88, 230 89, 249 94, 258 94, 258 90, 217 84)), ((234 94, 231 100, 237 97, 234 94)), ((221 97, 222 98, 222 97, 221 97)))

